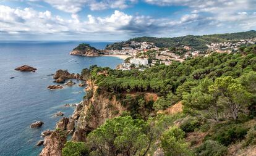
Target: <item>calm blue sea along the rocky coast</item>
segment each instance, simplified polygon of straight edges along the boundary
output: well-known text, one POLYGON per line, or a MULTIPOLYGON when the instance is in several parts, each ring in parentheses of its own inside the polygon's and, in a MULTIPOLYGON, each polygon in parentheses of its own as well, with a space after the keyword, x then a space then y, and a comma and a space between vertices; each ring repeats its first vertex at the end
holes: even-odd
MULTIPOLYGON (((69 117, 74 111, 64 104, 82 101, 85 95, 78 83, 51 91, 53 83, 48 76, 58 69, 80 73, 90 65, 115 68, 123 60, 116 57, 79 57, 69 55, 79 42, 4 42, 0 43, 0 155, 38 155, 42 147, 36 147, 45 129, 54 129, 61 117, 53 117, 61 111, 69 117), (17 72, 14 68, 31 65, 35 73, 17 72), (14 76, 14 79, 10 77, 14 76), (31 129, 30 124, 42 120, 45 124, 31 129)), ((109 43, 89 43, 103 49, 109 43)))

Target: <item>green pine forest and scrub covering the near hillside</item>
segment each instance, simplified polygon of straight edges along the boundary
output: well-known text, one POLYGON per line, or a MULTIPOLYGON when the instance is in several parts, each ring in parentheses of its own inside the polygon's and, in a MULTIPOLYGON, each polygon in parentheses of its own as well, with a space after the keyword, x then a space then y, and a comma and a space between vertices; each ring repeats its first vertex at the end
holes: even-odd
POLYGON ((80 155, 222 156, 234 144, 236 150, 253 147, 256 54, 254 47, 243 51, 249 52, 215 53, 143 72, 84 69, 83 78, 95 81, 97 94, 116 96, 127 111, 89 133, 85 144, 68 142, 63 153, 83 146, 80 155), (146 101, 145 92, 157 94, 158 99, 146 101), (182 113, 156 113, 179 101, 182 113))

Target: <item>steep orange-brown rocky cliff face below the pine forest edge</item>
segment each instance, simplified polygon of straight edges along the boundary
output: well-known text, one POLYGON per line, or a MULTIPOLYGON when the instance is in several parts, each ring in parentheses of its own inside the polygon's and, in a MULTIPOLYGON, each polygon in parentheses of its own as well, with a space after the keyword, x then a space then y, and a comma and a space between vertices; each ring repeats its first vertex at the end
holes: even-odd
POLYGON ((114 118, 121 115, 126 110, 116 96, 109 94, 98 94, 97 86, 94 86, 91 81, 88 81, 88 88, 92 91, 92 97, 84 100, 80 109, 76 110, 73 118, 77 120, 75 132, 72 140, 84 141, 85 134, 90 133, 93 129, 105 123, 108 118, 114 118))

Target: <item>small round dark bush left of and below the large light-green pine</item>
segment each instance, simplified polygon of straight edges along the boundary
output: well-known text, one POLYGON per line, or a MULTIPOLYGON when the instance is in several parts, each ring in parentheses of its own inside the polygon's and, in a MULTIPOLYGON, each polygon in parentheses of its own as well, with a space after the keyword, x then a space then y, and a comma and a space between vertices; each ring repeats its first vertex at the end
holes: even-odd
POLYGON ((199 128, 202 124, 200 121, 197 120, 197 118, 187 118, 185 121, 181 123, 180 128, 185 131, 186 133, 188 132, 193 132, 196 128, 199 128))

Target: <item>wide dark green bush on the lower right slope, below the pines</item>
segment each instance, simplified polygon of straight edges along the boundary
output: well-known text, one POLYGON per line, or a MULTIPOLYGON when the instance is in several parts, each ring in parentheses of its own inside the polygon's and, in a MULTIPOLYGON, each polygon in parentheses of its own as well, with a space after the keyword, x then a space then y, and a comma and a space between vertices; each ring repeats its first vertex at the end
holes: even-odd
POLYGON ((241 124, 232 124, 224 128, 219 128, 213 136, 210 138, 220 142, 224 146, 229 146, 236 141, 241 141, 247 134, 247 128, 244 128, 241 124))

